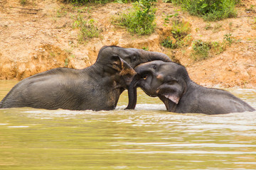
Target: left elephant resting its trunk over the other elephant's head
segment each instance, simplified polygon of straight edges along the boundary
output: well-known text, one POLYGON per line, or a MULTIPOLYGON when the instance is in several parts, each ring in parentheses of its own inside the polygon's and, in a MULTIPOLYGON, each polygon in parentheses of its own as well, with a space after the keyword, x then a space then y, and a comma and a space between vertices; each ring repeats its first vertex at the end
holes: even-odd
POLYGON ((50 69, 23 79, 3 98, 0 108, 112 110, 137 77, 133 67, 151 60, 171 61, 160 52, 104 46, 90 67, 50 69))

